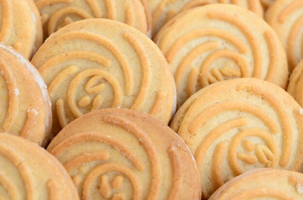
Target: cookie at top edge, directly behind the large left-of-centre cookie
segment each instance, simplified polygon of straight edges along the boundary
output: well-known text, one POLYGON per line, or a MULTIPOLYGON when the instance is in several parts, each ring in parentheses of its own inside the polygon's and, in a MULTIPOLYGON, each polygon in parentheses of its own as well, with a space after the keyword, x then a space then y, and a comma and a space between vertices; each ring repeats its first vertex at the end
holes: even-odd
POLYGON ((139 29, 151 37, 152 16, 145 0, 35 0, 42 16, 45 39, 82 19, 107 18, 139 29))

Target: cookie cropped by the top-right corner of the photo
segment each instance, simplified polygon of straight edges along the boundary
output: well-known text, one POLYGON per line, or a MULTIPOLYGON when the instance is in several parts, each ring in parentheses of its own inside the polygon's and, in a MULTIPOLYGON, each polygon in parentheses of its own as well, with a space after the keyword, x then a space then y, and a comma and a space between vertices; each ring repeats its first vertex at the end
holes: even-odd
POLYGON ((275 0, 265 19, 277 32, 288 57, 289 71, 303 58, 303 0, 275 0))

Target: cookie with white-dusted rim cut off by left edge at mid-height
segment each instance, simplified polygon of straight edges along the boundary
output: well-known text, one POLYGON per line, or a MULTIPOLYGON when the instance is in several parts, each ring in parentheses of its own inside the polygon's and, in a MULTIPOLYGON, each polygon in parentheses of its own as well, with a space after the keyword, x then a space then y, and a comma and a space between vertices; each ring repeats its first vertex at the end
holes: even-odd
POLYGON ((52 114, 38 71, 11 47, 0 43, 0 131, 45 146, 52 114))

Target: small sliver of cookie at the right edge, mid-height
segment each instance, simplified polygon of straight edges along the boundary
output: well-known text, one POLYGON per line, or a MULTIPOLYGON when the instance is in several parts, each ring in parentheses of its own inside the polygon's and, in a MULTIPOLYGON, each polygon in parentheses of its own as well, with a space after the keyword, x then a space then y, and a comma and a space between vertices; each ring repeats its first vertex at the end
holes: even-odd
POLYGON ((292 71, 289 77, 287 92, 303 106, 303 60, 292 71))

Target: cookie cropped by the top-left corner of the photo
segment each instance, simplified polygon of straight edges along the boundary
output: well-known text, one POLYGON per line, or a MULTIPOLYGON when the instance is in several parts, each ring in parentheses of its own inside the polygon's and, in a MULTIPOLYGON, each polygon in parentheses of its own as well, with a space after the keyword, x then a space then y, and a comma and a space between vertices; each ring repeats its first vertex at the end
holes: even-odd
POLYGON ((40 14, 32 0, 1 0, 0 42, 30 59, 42 44, 40 14))

